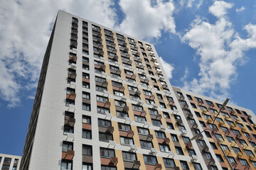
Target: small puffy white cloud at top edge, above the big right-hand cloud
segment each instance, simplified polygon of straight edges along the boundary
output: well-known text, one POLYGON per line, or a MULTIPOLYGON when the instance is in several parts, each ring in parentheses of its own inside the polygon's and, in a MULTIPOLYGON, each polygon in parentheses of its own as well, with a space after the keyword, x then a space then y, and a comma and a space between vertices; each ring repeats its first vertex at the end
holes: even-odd
POLYGON ((232 8, 233 4, 225 1, 215 1, 212 6, 210 6, 209 11, 213 13, 214 16, 220 18, 225 16, 228 8, 232 8))

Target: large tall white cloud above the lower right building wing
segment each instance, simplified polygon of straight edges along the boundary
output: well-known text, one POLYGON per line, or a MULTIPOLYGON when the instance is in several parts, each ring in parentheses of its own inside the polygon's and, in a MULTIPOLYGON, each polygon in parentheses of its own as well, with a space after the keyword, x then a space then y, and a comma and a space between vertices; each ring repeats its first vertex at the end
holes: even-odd
POLYGON ((197 18, 183 35, 182 40, 196 49, 200 56, 199 78, 184 81, 184 89, 223 100, 229 95, 230 84, 238 76, 238 64, 245 62, 244 52, 256 47, 256 26, 245 26, 248 36, 246 39, 240 38, 225 16, 226 8, 230 6, 232 4, 215 1, 210 6, 210 13, 218 17, 218 21, 210 24, 197 18))

